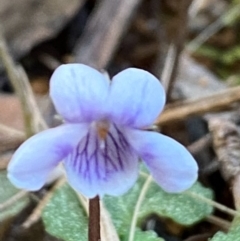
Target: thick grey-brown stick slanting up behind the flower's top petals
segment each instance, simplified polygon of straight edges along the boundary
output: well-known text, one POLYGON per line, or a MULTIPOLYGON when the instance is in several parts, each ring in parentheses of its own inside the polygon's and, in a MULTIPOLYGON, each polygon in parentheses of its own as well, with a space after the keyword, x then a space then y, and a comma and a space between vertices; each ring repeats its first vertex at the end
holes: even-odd
POLYGON ((76 45, 76 62, 104 69, 141 0, 99 1, 76 45))

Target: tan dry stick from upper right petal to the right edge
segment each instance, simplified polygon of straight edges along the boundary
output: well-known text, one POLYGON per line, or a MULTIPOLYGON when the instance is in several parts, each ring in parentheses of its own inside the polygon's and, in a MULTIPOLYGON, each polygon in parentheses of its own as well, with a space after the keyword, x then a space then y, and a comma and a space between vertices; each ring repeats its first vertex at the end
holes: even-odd
POLYGON ((155 124, 169 124, 185 120, 190 116, 202 115, 207 112, 229 108, 232 103, 240 101, 239 93, 240 87, 238 86, 204 98, 167 105, 163 113, 157 118, 155 124))

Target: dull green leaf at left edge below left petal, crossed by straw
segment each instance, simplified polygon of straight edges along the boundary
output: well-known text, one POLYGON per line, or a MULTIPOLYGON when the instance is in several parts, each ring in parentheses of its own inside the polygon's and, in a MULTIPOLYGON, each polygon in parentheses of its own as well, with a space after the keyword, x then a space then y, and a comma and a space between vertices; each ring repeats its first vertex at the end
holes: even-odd
MULTIPOLYGON (((6 202, 11 197, 16 195, 20 190, 15 188, 10 181, 8 180, 6 176, 6 172, 1 171, 0 172, 0 204, 6 202)), ((0 221, 12 217, 19 213, 29 202, 29 199, 27 196, 20 198, 17 200, 17 202, 14 202, 12 205, 10 205, 7 208, 4 208, 4 210, 0 211, 0 221)))

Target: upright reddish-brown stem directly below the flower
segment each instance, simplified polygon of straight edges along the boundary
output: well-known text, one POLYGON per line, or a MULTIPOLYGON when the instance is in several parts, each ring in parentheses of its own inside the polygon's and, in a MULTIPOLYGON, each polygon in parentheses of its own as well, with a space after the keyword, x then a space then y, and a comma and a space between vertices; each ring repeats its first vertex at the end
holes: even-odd
POLYGON ((89 200, 88 241, 100 241, 100 205, 99 197, 89 200))

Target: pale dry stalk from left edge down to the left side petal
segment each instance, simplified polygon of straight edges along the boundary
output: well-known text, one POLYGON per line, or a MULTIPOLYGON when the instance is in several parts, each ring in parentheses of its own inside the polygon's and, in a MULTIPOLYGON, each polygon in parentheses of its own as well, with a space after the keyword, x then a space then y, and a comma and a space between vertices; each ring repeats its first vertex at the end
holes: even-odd
POLYGON ((43 120, 35 102, 27 75, 20 65, 14 64, 14 61, 8 52, 1 29, 0 60, 6 69, 11 84, 13 85, 18 97, 20 98, 27 136, 29 137, 43 129, 46 129, 46 123, 43 120))

